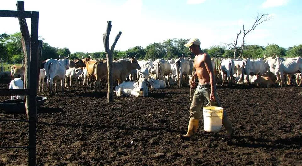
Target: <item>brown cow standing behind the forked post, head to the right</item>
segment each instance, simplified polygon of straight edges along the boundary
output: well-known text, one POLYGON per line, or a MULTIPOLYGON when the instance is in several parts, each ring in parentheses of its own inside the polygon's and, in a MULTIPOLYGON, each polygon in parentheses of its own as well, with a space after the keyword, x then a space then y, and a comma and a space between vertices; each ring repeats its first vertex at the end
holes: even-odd
MULTIPOLYGON (((119 60, 112 62, 113 68, 113 80, 117 80, 118 84, 129 76, 131 70, 141 69, 137 60, 135 58, 130 58, 129 60, 119 60)), ((94 82, 94 91, 101 88, 101 79, 107 79, 107 61, 100 60, 93 66, 93 74, 96 77, 94 82)))

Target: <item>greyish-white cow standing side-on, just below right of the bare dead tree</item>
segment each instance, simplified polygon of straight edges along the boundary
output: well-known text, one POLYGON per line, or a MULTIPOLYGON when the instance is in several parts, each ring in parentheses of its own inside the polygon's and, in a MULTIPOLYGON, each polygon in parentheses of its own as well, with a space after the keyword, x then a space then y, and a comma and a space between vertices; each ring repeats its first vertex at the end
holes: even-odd
POLYGON ((245 78, 244 75, 246 76, 246 80, 248 84, 250 85, 251 83, 249 82, 249 76, 253 75, 258 75, 261 76, 266 72, 265 66, 264 66, 264 61, 262 58, 258 58, 257 60, 251 60, 251 59, 244 59, 242 61, 241 65, 241 78, 239 79, 239 82, 243 83, 243 79, 245 78))

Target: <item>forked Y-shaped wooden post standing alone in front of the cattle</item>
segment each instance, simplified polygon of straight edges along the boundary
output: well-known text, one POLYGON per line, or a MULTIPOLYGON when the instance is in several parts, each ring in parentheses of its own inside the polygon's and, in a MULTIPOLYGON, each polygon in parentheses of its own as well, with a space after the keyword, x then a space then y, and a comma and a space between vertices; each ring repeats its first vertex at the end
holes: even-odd
POLYGON ((112 56, 113 56, 113 50, 116 45, 116 42, 119 40, 120 35, 122 32, 119 32, 117 36, 114 39, 114 42, 111 46, 111 49, 109 49, 109 35, 111 31, 111 21, 107 21, 107 29, 106 33, 103 34, 103 42, 106 52, 106 58, 107 58, 107 80, 108 80, 108 91, 107 91, 107 101, 112 102, 113 101, 113 69, 112 69, 112 56))

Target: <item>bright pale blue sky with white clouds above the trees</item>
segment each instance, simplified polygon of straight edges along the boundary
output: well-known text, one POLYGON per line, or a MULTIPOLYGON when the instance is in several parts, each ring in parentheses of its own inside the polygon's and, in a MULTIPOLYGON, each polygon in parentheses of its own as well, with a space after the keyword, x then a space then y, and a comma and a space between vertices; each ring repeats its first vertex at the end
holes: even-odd
MULTIPOLYGON (((16 10, 16 0, 0 0, 0 10, 16 10)), ((201 48, 225 46, 242 29, 250 29, 257 14, 270 20, 245 37, 247 45, 302 44, 300 0, 24 0, 25 11, 39 12, 39 36, 52 47, 74 52, 104 51, 102 34, 112 21, 109 47, 122 32, 115 50, 199 38, 201 48)), ((26 19, 29 31, 31 19, 26 19)), ((20 32, 17 18, 0 17, 0 34, 20 32)), ((243 33, 242 33, 243 34, 243 33)), ((242 36, 238 38, 241 44, 242 36)))

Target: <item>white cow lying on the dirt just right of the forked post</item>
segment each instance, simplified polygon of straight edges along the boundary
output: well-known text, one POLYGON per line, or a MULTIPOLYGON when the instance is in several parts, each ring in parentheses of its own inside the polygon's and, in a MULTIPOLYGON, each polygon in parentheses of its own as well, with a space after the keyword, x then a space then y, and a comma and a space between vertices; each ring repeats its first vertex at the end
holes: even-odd
POLYGON ((133 95, 135 97, 138 96, 148 96, 148 86, 146 84, 146 78, 140 78, 137 82, 123 82, 118 86, 115 86, 115 94, 116 96, 121 95, 133 95))

